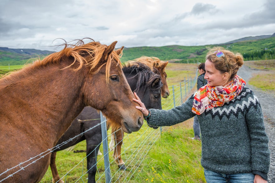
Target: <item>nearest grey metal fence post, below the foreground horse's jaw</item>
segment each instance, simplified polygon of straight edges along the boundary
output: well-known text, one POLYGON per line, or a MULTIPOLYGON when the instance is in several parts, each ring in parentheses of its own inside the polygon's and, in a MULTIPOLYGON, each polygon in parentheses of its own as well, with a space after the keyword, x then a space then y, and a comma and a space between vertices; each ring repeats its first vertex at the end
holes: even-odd
POLYGON ((111 170, 110 170, 109 153, 108 153, 109 149, 108 149, 108 140, 107 140, 107 137, 108 137, 107 125, 106 125, 106 118, 103 117, 101 111, 100 111, 100 120, 101 120, 105 177, 106 177, 106 183, 110 183, 111 182, 111 170))

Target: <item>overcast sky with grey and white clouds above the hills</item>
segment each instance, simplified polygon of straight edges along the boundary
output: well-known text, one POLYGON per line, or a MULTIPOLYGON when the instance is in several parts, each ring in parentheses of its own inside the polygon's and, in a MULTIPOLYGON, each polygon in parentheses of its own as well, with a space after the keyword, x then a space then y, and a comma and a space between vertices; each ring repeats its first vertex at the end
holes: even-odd
POLYGON ((0 47, 206 45, 275 33, 274 0, 1 0, 0 47), (61 39, 58 39, 61 38, 61 39))

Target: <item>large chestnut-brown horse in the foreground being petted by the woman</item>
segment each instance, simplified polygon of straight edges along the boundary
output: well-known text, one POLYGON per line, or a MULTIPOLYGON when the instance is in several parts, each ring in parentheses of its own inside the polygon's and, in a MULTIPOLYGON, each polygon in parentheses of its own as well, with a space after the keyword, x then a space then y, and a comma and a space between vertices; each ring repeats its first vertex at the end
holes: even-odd
POLYGON ((75 45, 0 79, 0 182, 39 182, 54 147, 85 106, 123 131, 138 131, 142 113, 121 69, 116 42, 75 45))

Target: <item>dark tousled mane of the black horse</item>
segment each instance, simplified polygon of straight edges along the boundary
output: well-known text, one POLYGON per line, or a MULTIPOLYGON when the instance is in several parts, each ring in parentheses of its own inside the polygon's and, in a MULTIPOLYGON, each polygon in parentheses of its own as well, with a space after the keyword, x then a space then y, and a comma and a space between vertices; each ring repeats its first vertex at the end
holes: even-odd
MULTIPOLYGON (((138 78, 135 89, 133 92, 137 92, 144 83, 146 83, 145 87, 150 87, 152 83, 154 82, 155 79, 159 78, 161 79, 159 75, 159 71, 155 70, 155 72, 151 71, 148 66, 146 66, 143 63, 140 62, 126 62, 122 66, 123 72, 128 72, 128 73, 135 73, 135 77, 138 78)), ((157 86, 157 89, 162 87, 161 82, 159 82, 160 85, 157 86)))

